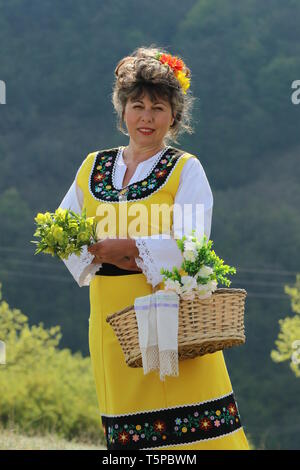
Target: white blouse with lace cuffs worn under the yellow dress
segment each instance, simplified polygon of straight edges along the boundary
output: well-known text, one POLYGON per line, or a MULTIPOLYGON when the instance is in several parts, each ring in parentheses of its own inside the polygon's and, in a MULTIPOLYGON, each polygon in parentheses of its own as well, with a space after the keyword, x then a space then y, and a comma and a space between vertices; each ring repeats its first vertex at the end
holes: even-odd
MULTIPOLYGON (((140 162, 128 185, 144 179, 151 171, 151 168, 156 165, 160 156, 161 152, 158 152, 151 158, 148 158, 148 160, 140 162)), ((123 160, 123 147, 119 148, 116 158, 114 186, 116 189, 121 189, 127 168, 123 160)), ((81 213, 83 207, 83 193, 77 184, 77 175, 80 168, 81 167, 79 167, 72 185, 59 206, 62 209, 70 209, 76 213, 81 213)), ((192 228, 196 229, 197 205, 203 204, 203 229, 209 239, 213 210, 213 194, 205 171, 198 159, 190 158, 183 166, 174 203, 180 205, 182 208, 184 204, 190 204, 192 208, 188 224, 186 223, 187 220, 185 216, 184 218, 179 216, 180 211, 173 212, 174 235, 176 234, 175 236, 181 238, 184 234, 189 235, 192 228), (182 220, 182 218, 184 220, 182 220)), ((136 264, 143 270, 147 282, 152 284, 153 287, 163 280, 162 274, 160 274, 161 268, 172 270, 173 266, 181 267, 183 257, 174 238, 151 238, 151 236, 135 237, 135 242, 139 251, 139 257, 135 258, 136 264)), ((88 252, 87 246, 85 245, 80 256, 72 254, 66 260, 63 260, 79 287, 88 286, 92 278, 96 275, 96 272, 102 266, 100 263, 91 264, 93 259, 94 256, 88 252)))

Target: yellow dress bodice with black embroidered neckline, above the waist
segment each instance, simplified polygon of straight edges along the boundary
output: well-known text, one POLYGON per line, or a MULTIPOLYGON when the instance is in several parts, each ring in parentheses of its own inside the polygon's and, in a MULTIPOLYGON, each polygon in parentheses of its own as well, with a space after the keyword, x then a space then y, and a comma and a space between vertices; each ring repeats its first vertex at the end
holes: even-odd
POLYGON ((197 157, 169 146, 144 179, 117 189, 113 176, 118 151, 119 147, 114 147, 88 154, 77 174, 84 195, 83 208, 87 217, 95 217, 98 222, 97 238, 126 238, 132 236, 132 230, 138 237, 170 234, 182 168, 189 158, 197 157), (162 218, 151 215, 156 204, 166 209, 162 218))

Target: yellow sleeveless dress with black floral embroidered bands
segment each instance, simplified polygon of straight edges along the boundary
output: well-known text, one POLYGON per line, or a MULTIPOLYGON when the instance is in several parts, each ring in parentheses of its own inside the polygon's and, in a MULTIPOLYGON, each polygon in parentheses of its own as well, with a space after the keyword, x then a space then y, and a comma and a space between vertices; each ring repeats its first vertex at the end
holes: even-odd
MULTIPOLYGON (((123 204, 130 221, 136 203, 148 213, 151 204, 172 205, 184 164, 196 158, 168 147, 148 177, 118 190, 112 178, 118 149, 90 153, 81 165, 77 183, 88 217, 98 217, 99 208, 108 206, 120 216, 123 204)), ((122 220, 116 217, 118 235, 122 220)), ((149 219, 141 224, 143 235, 149 235, 149 224, 149 219)), ((152 225, 151 233, 155 230, 162 233, 160 223, 152 225)), ((164 382, 157 371, 144 375, 143 368, 126 365, 106 318, 151 293, 143 273, 108 264, 90 282, 89 348, 107 449, 249 450, 222 351, 179 361, 179 376, 167 376, 164 382)))

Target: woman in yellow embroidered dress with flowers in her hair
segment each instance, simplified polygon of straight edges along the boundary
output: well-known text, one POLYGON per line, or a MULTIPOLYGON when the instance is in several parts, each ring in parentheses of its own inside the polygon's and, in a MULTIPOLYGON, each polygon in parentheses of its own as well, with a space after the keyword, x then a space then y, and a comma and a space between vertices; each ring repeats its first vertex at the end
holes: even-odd
POLYGON ((113 104, 129 143, 88 154, 60 205, 77 212, 85 207, 99 218, 100 241, 64 262, 79 286, 90 286, 89 347, 107 448, 249 450, 222 351, 180 361, 179 376, 163 382, 126 365, 106 322, 136 297, 163 288, 160 269, 180 268, 183 260, 175 238, 198 228, 197 204, 204 207, 209 238, 213 207, 197 157, 167 145, 191 132, 190 70, 160 48, 142 47, 118 63, 115 75, 113 104), (130 236, 127 226, 124 231, 120 217, 126 207, 128 223, 135 204, 147 209, 140 236, 130 236), (169 211, 173 236, 163 238, 165 226, 148 218, 155 204, 192 204, 189 226, 169 211), (113 220, 107 231, 103 209, 113 220))

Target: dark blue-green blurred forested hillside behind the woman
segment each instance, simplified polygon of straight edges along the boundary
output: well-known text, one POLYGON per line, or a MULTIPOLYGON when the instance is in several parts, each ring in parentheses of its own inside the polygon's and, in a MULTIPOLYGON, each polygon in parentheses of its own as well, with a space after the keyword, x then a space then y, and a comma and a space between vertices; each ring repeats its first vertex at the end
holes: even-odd
POLYGON ((33 256, 33 219, 59 206, 88 153, 127 144, 111 104, 118 60, 151 43, 182 55, 197 101, 180 147, 205 169, 214 249, 248 292, 246 344, 226 364, 245 431, 267 449, 299 448, 299 380, 270 357, 300 262, 299 23, 297 0, 0 0, 3 297, 88 356, 89 291, 33 256))

